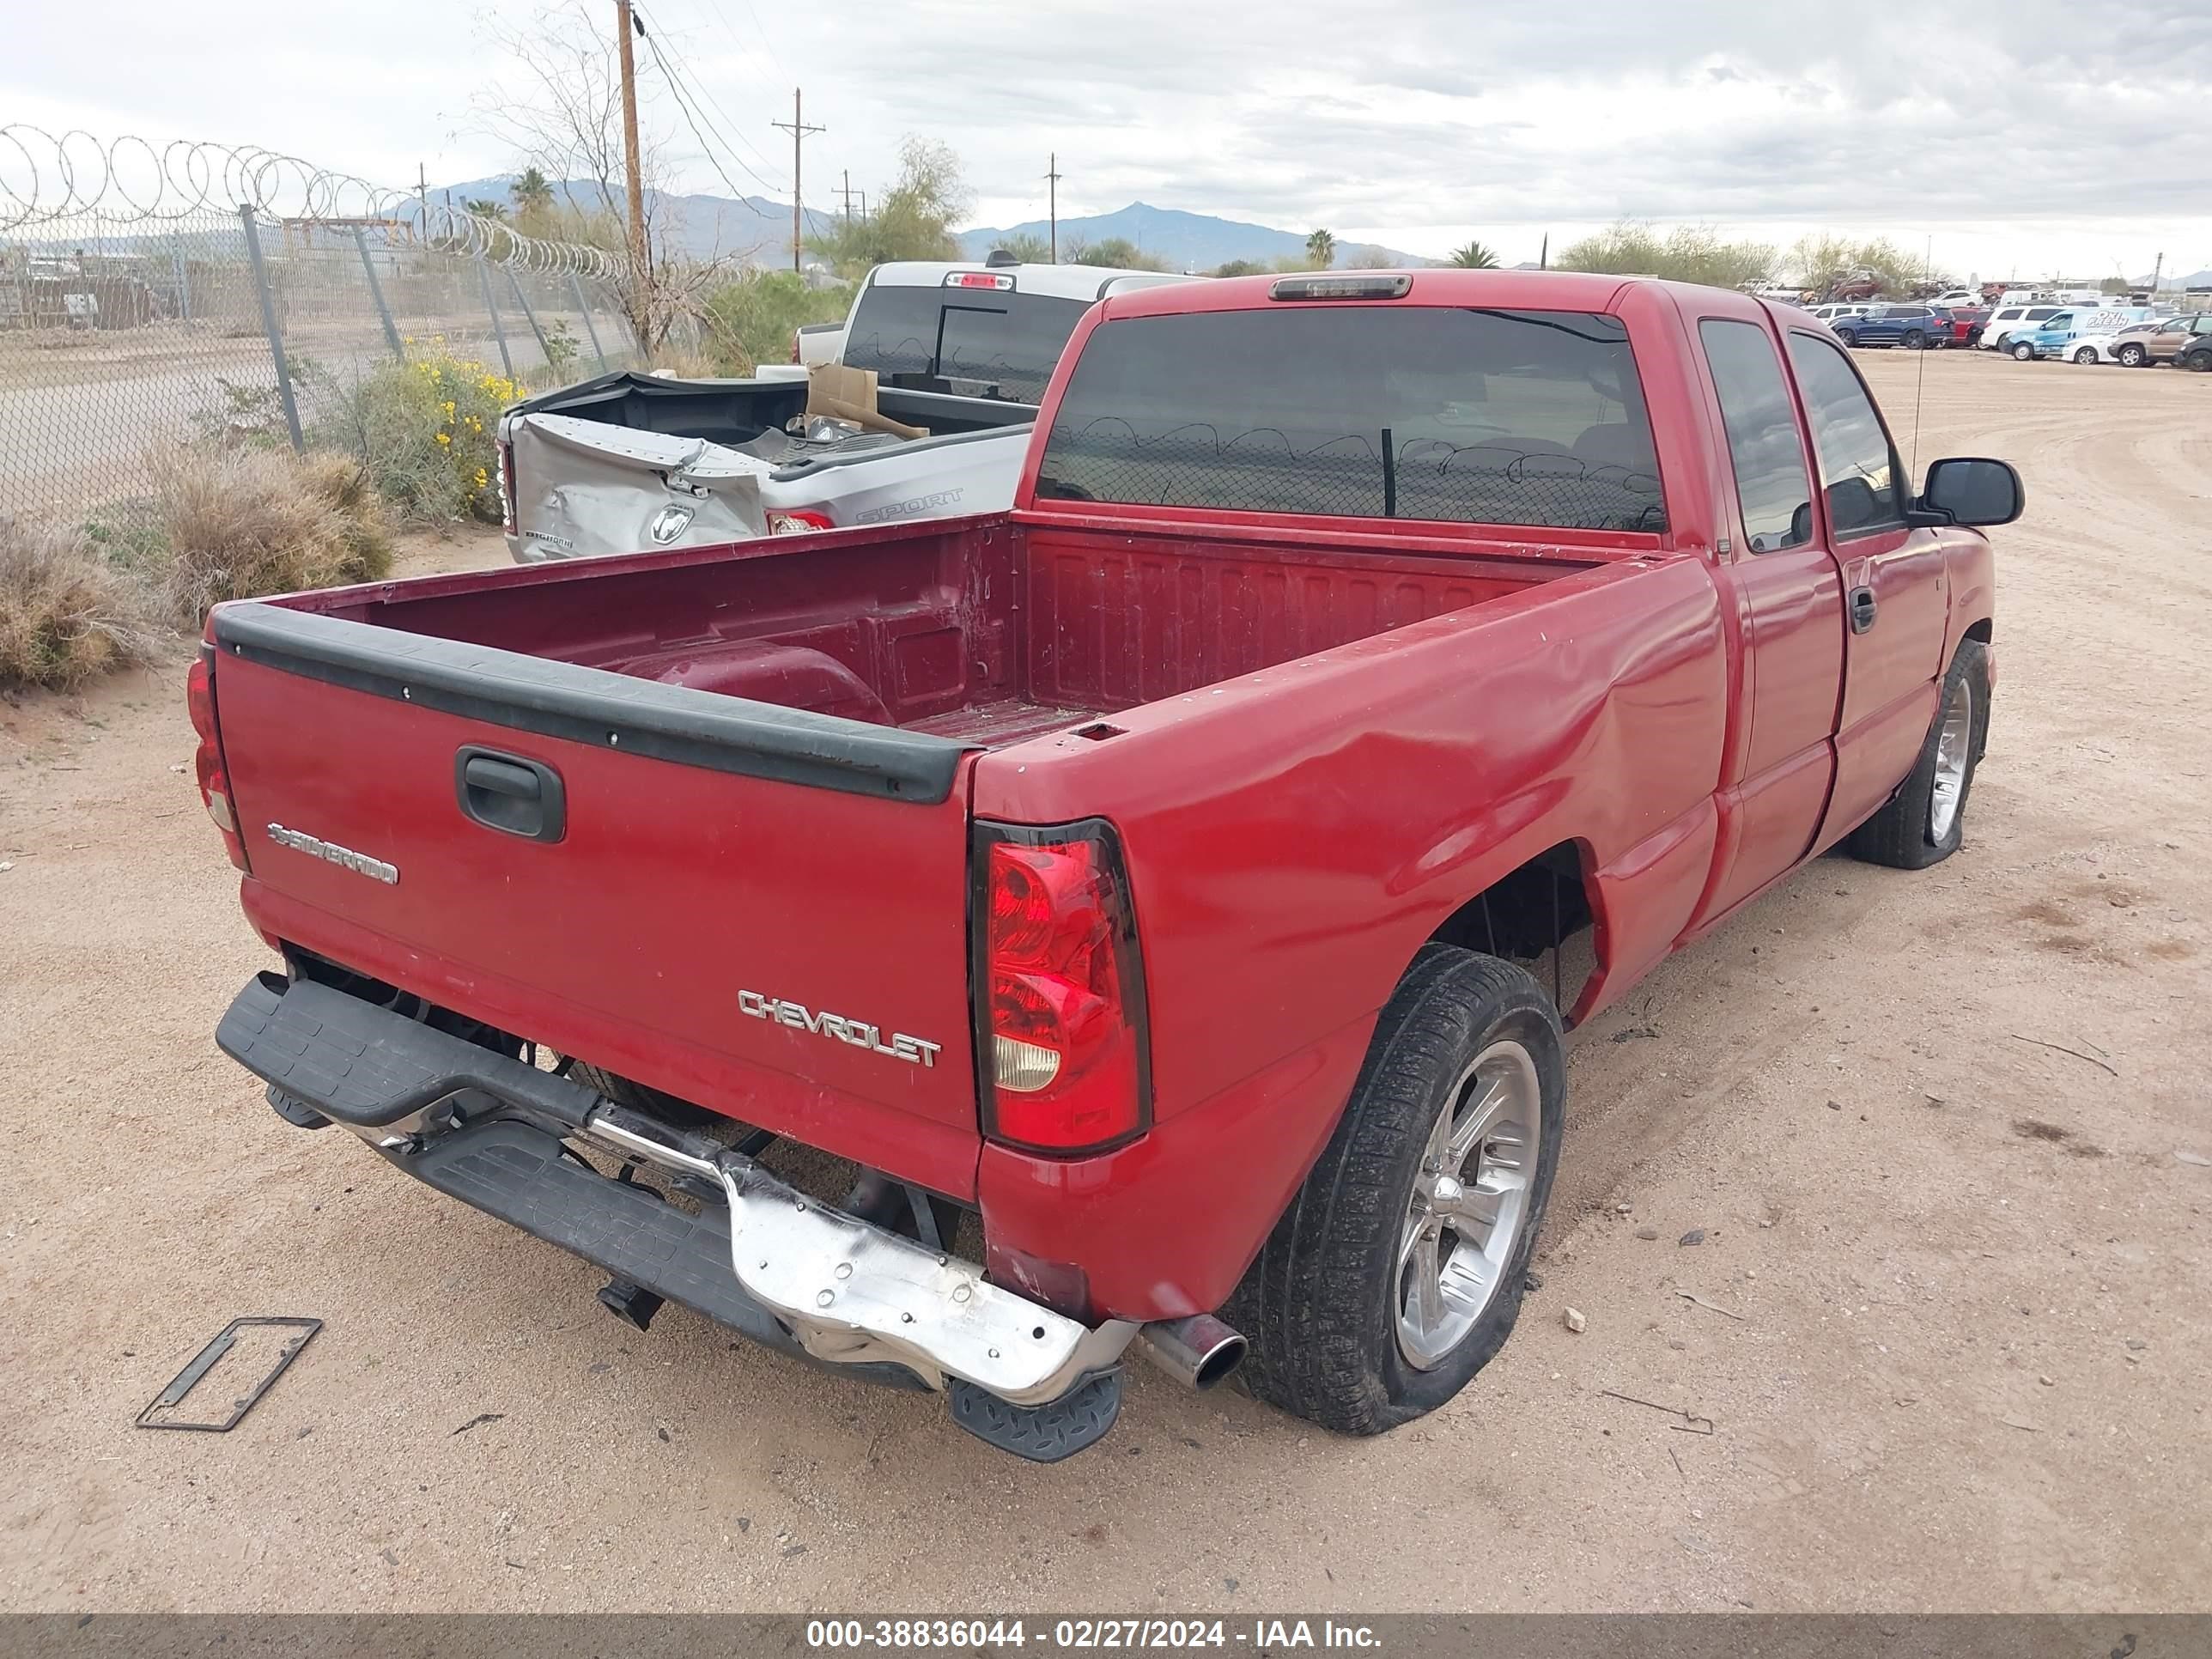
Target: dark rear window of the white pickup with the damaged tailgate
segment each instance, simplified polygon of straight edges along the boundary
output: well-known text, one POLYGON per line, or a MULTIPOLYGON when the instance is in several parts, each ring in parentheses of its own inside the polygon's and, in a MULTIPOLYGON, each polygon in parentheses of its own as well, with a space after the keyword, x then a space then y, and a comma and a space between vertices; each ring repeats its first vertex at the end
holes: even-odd
POLYGON ((874 283, 845 334, 845 365, 885 385, 1040 403, 1091 301, 1020 288, 874 283))

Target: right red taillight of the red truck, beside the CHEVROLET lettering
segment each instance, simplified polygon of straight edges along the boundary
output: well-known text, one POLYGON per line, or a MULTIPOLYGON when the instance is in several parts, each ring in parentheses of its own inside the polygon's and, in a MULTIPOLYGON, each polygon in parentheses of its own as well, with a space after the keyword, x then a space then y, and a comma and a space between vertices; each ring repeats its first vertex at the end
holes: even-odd
POLYGON ((1110 825, 975 827, 984 1135, 1095 1152, 1150 1124, 1144 958, 1110 825))

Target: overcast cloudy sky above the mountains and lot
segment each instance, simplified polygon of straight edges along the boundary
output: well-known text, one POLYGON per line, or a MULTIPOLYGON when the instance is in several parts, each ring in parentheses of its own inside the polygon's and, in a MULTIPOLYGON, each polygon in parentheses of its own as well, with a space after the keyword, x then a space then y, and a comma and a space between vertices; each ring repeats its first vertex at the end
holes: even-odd
MULTIPOLYGON (((1133 199, 1440 254, 1533 259, 1615 217, 1933 243, 1964 276, 2212 265, 2212 0, 637 0, 703 93, 701 144, 641 62, 679 188, 874 188, 951 144, 978 223, 1133 199), (1995 18, 1991 22, 1989 18, 1995 18), (750 173, 748 173, 750 168, 750 173)), ((611 31, 613 0, 575 0, 611 31)), ((495 46, 535 7, 77 0, 18 7, 0 124, 259 144, 392 184, 507 170, 495 46)), ((0 146, 0 179, 22 175, 0 146)))

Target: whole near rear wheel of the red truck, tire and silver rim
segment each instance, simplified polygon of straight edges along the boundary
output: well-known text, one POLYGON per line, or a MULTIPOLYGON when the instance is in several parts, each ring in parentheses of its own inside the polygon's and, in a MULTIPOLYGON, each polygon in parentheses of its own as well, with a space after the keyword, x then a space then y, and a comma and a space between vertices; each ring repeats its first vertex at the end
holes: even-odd
POLYGON ((1252 1340, 1252 1394, 1380 1433, 1467 1387, 1520 1316, 1564 1099, 1559 1018, 1537 982, 1425 947, 1225 1310, 1252 1340))

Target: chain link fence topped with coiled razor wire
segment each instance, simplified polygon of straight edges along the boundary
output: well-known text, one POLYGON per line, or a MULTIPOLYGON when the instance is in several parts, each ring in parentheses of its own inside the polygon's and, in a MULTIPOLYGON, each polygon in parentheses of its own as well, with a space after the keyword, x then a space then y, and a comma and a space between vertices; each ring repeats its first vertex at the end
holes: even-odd
POLYGON ((615 265, 261 150, 0 128, 0 513, 131 529, 175 442, 345 447, 385 365, 628 367, 615 265))

